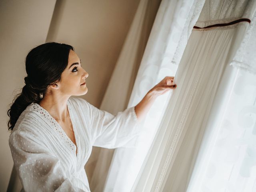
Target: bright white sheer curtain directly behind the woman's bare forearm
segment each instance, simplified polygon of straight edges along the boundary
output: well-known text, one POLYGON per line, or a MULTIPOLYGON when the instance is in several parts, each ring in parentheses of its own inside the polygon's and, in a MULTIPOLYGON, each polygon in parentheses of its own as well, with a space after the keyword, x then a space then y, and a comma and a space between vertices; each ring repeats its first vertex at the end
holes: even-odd
MULTIPOLYGON (((128 106, 138 104, 145 94, 165 76, 174 76, 191 29, 196 23, 204 1, 162 0, 157 12, 128 106), (190 28, 189 30, 187 30, 190 28), (174 52, 179 46, 179 54, 174 52)), ((147 150, 164 113, 169 94, 162 95, 152 105, 142 123, 144 134, 136 148, 118 148, 114 151, 108 172, 105 192, 130 192, 147 150)))

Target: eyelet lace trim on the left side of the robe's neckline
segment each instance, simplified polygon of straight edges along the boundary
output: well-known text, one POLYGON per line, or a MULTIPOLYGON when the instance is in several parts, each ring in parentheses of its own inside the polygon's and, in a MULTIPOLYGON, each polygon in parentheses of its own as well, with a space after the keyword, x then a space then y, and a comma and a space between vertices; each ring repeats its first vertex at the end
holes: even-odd
MULTIPOLYGON (((68 108, 70 112, 71 109, 69 106, 68 108)), ((60 138, 62 138, 62 141, 64 141, 64 144, 66 144, 68 148, 71 148, 72 151, 76 153, 75 144, 70 140, 70 138, 66 135, 64 130, 61 128, 60 124, 58 124, 58 122, 54 118, 52 118, 52 116, 48 113, 48 111, 46 111, 37 103, 32 104, 32 109, 34 110, 32 112, 34 112, 40 119, 42 119, 51 129, 53 128, 54 131, 60 136, 60 138)))

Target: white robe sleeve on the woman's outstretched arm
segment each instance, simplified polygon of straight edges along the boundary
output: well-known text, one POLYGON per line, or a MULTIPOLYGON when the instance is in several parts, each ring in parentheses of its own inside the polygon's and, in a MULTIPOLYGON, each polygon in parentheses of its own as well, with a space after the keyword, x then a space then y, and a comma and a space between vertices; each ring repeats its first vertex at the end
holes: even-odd
POLYGON ((103 148, 134 147, 141 128, 134 106, 116 115, 100 110, 79 98, 88 108, 93 146, 103 148))

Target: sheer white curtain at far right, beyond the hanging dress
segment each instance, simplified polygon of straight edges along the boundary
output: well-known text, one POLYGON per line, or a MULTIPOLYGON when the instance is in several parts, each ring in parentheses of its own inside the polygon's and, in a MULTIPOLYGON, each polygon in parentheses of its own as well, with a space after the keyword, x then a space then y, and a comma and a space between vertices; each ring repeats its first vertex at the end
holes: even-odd
POLYGON ((231 63, 239 70, 233 69, 226 98, 213 112, 222 115, 206 127, 188 192, 256 191, 256 7, 248 6, 254 16, 231 63))

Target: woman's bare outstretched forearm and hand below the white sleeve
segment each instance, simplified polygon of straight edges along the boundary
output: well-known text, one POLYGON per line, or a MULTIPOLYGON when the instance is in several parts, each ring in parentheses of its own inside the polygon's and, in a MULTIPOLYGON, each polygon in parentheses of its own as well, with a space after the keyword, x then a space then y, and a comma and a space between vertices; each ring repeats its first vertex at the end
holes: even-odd
POLYGON ((174 77, 166 76, 162 81, 160 81, 156 86, 148 91, 144 98, 135 106, 135 112, 139 121, 141 121, 144 116, 150 110, 152 104, 159 95, 166 93, 171 89, 175 89, 176 84, 172 84, 174 77))

